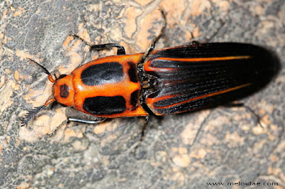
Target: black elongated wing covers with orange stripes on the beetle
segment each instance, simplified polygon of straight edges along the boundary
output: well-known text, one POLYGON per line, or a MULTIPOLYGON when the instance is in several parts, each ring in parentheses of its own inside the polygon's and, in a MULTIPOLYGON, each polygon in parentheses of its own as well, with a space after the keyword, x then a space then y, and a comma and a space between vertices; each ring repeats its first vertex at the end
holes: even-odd
POLYGON ((157 115, 215 107, 247 97, 278 70, 269 50, 244 43, 204 43, 152 51, 145 72, 156 78, 146 104, 157 115))

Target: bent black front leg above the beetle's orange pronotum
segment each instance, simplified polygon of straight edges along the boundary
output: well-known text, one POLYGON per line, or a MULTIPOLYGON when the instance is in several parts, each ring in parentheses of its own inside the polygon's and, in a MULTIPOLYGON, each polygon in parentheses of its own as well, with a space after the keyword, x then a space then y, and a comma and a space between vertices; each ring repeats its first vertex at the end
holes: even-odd
POLYGON ((106 48, 117 48, 117 55, 125 55, 125 48, 122 45, 119 45, 117 43, 106 43, 102 45, 91 45, 87 41, 85 41, 83 38, 77 36, 75 33, 71 33, 70 36, 76 37, 80 39, 83 43, 90 46, 90 50, 103 50, 106 48))

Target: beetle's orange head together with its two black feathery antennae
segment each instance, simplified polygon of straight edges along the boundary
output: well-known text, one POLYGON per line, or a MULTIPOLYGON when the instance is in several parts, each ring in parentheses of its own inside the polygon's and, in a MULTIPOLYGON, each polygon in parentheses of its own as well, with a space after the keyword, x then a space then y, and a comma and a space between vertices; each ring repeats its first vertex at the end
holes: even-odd
MULTIPOLYGON (((41 70, 41 72, 45 72, 48 75, 48 80, 53 82, 53 97, 50 97, 45 104, 41 107, 34 107, 33 109, 29 110, 28 113, 24 116, 22 119, 21 126, 25 126, 28 124, 28 121, 32 119, 33 117, 38 114, 38 112, 41 112, 41 110, 44 107, 47 107, 52 102, 58 102, 62 106, 71 106, 73 105, 73 85, 72 85, 72 78, 71 75, 61 75, 58 78, 54 79, 46 68, 44 68, 42 65, 36 63, 35 60, 31 60, 30 58, 26 58, 28 60, 28 63, 31 63, 34 67, 38 68, 38 70, 41 70)), ((55 76, 56 77, 56 76, 55 76)))

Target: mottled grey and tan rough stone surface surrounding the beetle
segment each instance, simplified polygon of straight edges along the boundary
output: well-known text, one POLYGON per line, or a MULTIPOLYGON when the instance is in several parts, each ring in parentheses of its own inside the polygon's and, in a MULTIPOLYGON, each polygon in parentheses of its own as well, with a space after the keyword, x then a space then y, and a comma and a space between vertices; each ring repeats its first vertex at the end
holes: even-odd
POLYGON ((66 114, 77 114, 56 105, 28 127, 19 126, 25 109, 51 95, 46 75, 25 58, 64 74, 115 53, 90 53, 68 37, 70 31, 93 44, 120 43, 128 54, 143 52, 162 27, 159 9, 167 13, 167 31, 157 48, 192 40, 247 42, 275 50, 284 65, 284 0, 0 1, 3 188, 212 188, 207 183, 239 181, 285 188, 284 69, 242 100, 264 128, 244 107, 151 117, 145 140, 132 153, 142 118, 71 123, 49 138, 66 114))

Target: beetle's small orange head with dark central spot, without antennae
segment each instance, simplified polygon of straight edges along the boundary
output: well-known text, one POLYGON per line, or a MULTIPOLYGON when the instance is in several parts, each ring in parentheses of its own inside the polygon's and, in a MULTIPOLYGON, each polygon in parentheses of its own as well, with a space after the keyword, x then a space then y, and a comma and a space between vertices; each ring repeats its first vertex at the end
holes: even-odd
POLYGON ((72 75, 66 75, 66 77, 56 80, 53 84, 53 97, 60 104, 68 107, 73 106, 74 90, 72 75))

